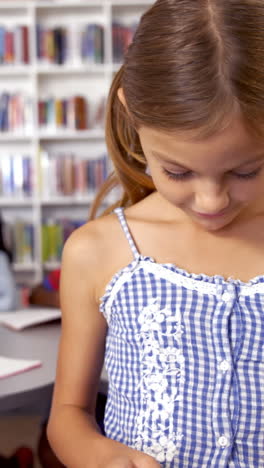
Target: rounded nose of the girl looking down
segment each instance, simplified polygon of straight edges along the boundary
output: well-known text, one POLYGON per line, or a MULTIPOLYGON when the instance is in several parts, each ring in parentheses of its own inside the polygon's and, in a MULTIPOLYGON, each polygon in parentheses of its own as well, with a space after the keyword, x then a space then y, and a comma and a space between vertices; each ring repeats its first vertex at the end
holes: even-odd
POLYGON ((225 210, 230 203, 225 187, 217 183, 204 183, 195 193, 195 211, 213 215, 225 210))

